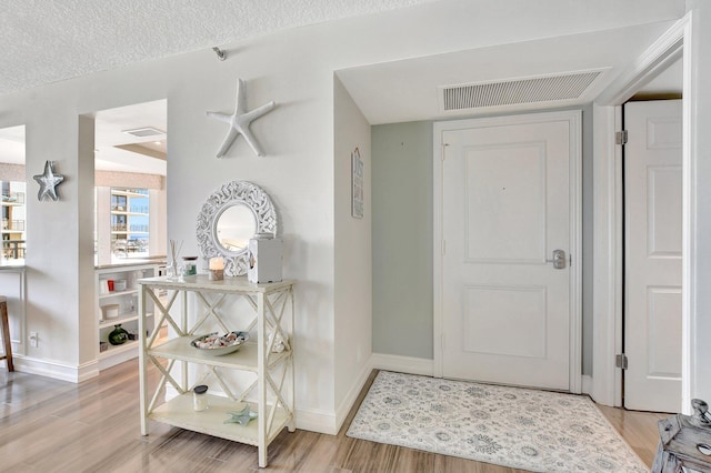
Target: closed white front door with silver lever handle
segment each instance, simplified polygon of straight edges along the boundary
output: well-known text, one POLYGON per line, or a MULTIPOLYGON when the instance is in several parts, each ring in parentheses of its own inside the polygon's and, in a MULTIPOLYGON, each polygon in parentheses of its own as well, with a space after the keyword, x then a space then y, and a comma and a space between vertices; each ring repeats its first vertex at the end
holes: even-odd
POLYGON ((580 113, 450 124, 440 134, 442 375, 569 391, 580 113))

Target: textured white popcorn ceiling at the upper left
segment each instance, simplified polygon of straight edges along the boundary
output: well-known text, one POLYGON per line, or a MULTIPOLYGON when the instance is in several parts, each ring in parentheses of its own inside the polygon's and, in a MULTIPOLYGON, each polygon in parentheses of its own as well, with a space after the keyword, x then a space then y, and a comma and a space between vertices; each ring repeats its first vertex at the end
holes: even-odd
POLYGON ((0 95, 432 0, 1 0, 0 95))

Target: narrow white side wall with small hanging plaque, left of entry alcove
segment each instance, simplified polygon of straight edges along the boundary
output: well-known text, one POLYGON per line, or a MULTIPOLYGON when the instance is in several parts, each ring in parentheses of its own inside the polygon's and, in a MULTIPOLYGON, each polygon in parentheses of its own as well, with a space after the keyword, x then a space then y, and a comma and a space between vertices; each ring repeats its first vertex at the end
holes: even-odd
MULTIPOLYGON (((334 375, 337 425, 370 374, 372 353, 372 160, 370 123, 333 80, 334 375), (351 215, 351 153, 363 162, 363 218, 351 215)), ((336 432, 333 432, 336 433, 336 432)))

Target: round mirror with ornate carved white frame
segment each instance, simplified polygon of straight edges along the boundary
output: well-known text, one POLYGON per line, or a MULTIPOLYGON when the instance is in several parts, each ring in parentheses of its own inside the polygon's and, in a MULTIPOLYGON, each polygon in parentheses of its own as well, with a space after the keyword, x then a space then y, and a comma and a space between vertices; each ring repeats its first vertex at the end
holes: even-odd
POLYGON ((206 260, 222 256, 224 274, 247 274, 247 244, 256 233, 277 234, 277 212, 269 195, 247 181, 220 185, 206 200, 196 227, 206 260))

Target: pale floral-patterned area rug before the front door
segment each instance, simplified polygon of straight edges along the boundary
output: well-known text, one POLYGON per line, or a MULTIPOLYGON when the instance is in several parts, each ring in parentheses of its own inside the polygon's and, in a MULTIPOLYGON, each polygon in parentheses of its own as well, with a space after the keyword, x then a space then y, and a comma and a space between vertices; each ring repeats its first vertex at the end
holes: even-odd
POLYGON ((381 371, 350 437, 533 472, 649 472, 590 399, 381 371))

